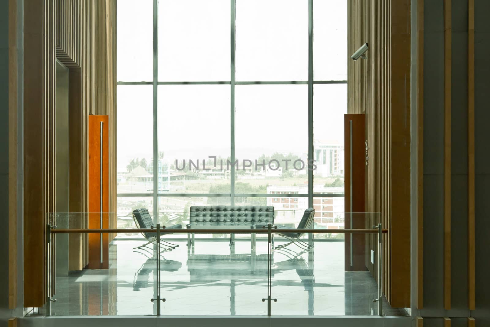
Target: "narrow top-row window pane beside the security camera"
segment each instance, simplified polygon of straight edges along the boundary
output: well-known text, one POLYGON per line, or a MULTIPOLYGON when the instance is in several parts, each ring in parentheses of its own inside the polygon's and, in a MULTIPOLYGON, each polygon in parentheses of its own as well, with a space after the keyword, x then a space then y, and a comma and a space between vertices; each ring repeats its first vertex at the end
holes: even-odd
POLYGON ((313 79, 347 80, 347 0, 314 0, 313 8, 313 79))

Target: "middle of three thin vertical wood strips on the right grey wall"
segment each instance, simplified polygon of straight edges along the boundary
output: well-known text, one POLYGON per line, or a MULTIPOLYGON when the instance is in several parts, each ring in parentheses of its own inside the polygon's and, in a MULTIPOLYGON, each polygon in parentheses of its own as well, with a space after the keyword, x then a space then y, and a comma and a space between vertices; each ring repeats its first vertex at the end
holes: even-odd
POLYGON ((444 309, 451 309, 451 0, 444 0, 444 309))

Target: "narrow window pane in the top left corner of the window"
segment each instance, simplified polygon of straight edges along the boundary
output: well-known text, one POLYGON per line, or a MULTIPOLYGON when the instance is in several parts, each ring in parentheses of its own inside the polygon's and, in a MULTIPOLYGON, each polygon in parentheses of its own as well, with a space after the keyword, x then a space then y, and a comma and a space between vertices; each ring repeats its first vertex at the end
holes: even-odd
POLYGON ((153 80, 153 1, 118 0, 118 80, 153 80))

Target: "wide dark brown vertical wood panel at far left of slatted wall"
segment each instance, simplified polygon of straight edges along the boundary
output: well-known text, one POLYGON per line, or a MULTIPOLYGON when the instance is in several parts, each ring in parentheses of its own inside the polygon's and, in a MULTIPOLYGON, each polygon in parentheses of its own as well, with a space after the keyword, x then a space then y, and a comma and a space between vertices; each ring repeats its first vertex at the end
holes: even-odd
POLYGON ((44 30, 43 3, 25 0, 24 8, 24 278, 30 287, 24 288, 24 306, 38 306, 44 302, 43 287, 43 212, 44 212, 44 103, 43 103, 43 53, 44 30), (42 195, 42 196, 40 196, 42 195), (29 219, 28 217, 36 217, 29 219), (39 269, 40 268, 40 269, 39 269))

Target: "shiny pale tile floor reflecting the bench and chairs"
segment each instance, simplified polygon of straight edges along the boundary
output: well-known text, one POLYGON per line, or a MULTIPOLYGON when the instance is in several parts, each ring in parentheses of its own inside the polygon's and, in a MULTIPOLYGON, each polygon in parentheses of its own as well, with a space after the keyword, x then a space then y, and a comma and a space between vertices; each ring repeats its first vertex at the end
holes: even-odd
MULTIPOLYGON (((162 315, 267 315, 267 243, 230 247, 223 241, 186 242, 161 254, 162 315)), ((83 270, 56 277, 53 315, 153 315, 156 259, 133 250, 142 240, 116 240, 109 270, 83 270)), ((276 245, 282 242, 276 241, 276 245)), ((274 251, 272 315, 377 315, 377 285, 368 272, 344 272, 343 242, 315 242, 313 251, 274 251)), ((407 315, 383 301, 385 315, 407 315)))

